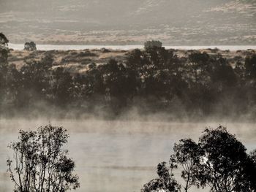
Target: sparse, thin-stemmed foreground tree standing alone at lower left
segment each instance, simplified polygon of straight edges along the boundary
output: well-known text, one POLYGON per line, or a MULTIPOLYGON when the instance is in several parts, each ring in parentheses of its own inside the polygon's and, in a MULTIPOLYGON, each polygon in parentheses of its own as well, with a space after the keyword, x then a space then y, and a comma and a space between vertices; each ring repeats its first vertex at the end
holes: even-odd
POLYGON ((64 192, 79 187, 72 174, 75 163, 63 149, 69 135, 62 127, 45 126, 37 131, 22 131, 13 142, 13 161, 7 160, 10 178, 17 192, 64 192))

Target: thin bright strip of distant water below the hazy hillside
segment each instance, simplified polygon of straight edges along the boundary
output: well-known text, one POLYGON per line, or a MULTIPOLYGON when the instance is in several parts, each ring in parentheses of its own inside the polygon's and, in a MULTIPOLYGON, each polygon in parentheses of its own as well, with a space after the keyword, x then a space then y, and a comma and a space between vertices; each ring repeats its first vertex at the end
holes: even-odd
MULTIPOLYGON (((9 44, 13 50, 23 50, 23 44, 9 44)), ((112 49, 112 50, 132 50, 142 49, 143 45, 37 45, 37 50, 85 50, 85 49, 112 49)), ((166 49, 180 49, 180 50, 200 50, 200 49, 214 49, 219 50, 256 50, 256 45, 211 45, 211 46, 164 46, 166 49)))

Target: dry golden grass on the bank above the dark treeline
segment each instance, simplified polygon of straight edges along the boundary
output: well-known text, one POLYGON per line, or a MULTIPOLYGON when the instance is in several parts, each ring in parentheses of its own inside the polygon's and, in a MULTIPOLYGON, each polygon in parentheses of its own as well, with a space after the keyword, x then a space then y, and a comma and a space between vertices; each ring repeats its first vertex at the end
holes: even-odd
MULTIPOLYGON (((235 66, 236 61, 239 59, 244 62, 246 55, 255 53, 255 50, 242 50, 242 51, 229 51, 206 49, 199 50, 206 52, 209 55, 221 54, 223 57, 230 61, 232 66, 235 66)), ((52 51, 34 51, 29 52, 25 50, 12 50, 9 55, 10 64, 15 64, 18 69, 26 64, 27 61, 40 61, 45 55, 50 54, 53 58, 54 68, 64 66, 70 69, 71 72, 83 73, 87 70, 87 65, 91 63, 106 64, 110 58, 115 58, 119 62, 125 62, 126 55, 129 51, 124 50, 52 50, 52 51)), ((174 50, 178 57, 186 57, 193 50, 174 50)))

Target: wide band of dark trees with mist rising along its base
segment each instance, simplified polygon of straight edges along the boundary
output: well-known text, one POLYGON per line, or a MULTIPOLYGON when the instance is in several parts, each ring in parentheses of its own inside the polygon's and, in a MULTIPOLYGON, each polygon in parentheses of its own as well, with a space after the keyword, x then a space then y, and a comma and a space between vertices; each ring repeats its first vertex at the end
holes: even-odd
POLYGON ((8 64, 2 44, 1 113, 61 109, 119 115, 136 107, 142 114, 255 118, 256 54, 231 66, 222 55, 193 51, 181 57, 162 44, 146 45, 130 51, 124 62, 92 63, 83 74, 74 74, 53 66, 50 52, 18 69, 8 64))

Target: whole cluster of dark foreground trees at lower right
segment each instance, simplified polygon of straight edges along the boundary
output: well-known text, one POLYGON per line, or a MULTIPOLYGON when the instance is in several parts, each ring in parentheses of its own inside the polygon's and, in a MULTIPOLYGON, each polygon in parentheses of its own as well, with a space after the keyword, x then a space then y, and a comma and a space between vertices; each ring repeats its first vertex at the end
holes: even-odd
MULTIPOLYGON (((169 165, 157 166, 158 178, 143 185, 141 192, 190 191, 192 187, 205 191, 256 191, 256 150, 246 153, 246 147, 223 126, 206 128, 198 142, 181 139, 173 147, 169 165), (182 185, 177 182, 180 172, 182 185)), ((191 190, 192 191, 192 190, 191 190)))

